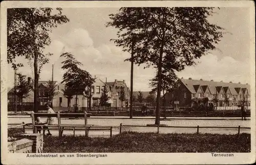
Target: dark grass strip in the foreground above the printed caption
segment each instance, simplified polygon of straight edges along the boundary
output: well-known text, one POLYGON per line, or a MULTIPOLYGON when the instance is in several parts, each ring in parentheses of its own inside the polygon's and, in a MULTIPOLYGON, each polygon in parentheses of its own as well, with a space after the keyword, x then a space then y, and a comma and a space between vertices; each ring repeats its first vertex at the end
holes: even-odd
POLYGON ((44 152, 250 152, 250 134, 156 134, 129 132, 111 138, 44 138, 44 152))

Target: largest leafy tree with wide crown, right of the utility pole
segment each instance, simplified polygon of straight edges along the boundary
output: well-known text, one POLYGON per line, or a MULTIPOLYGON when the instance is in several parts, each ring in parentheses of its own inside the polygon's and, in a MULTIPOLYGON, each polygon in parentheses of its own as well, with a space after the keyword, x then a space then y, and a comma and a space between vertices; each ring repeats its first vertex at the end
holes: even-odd
POLYGON ((181 71, 196 64, 208 50, 216 48, 223 35, 220 26, 208 22, 214 8, 160 7, 120 8, 110 14, 107 26, 119 31, 114 39, 123 51, 134 51, 135 64, 153 65, 158 72, 156 121, 160 123, 160 92, 162 68, 181 71), (135 44, 132 44, 133 40, 135 44))

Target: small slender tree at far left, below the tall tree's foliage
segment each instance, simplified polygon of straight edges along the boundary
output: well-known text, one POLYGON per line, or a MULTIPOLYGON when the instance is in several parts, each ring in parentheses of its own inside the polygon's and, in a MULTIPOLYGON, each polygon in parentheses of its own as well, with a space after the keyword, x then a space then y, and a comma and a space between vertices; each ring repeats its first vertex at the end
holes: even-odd
POLYGON ((27 81, 27 76, 22 75, 22 73, 17 73, 18 75, 18 84, 16 87, 16 95, 19 98, 22 104, 22 113, 23 113, 23 99, 29 97, 29 92, 31 91, 31 85, 27 81))

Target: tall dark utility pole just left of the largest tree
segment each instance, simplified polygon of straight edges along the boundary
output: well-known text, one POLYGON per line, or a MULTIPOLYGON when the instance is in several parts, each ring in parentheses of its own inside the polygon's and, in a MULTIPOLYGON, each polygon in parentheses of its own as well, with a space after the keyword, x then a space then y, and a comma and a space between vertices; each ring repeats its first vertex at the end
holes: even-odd
POLYGON ((134 63, 134 44, 135 38, 132 39, 132 57, 131 57, 131 94, 130 94, 130 119, 133 118, 133 63, 134 63))

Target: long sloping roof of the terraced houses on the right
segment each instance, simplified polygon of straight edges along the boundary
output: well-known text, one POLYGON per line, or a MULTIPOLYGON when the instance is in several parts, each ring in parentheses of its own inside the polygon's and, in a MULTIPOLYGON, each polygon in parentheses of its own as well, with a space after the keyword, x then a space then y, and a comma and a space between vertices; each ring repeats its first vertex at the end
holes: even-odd
POLYGON ((205 81, 205 80, 184 79, 184 78, 181 78, 179 80, 184 84, 184 86, 191 93, 196 93, 194 89, 194 85, 200 85, 201 87, 208 86, 211 94, 216 94, 216 87, 229 87, 229 90, 232 95, 238 94, 240 90, 240 89, 238 90, 238 88, 246 88, 248 90, 248 94, 250 95, 250 85, 248 84, 238 84, 238 83, 219 82, 219 81, 205 81), (237 90, 235 88, 237 88, 237 90))

